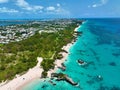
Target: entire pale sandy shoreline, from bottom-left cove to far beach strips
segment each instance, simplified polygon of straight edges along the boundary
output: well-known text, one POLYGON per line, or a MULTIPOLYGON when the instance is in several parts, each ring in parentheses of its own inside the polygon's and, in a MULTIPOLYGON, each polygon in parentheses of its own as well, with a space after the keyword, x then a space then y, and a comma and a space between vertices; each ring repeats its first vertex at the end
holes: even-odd
MULTIPOLYGON (((77 32, 77 29, 79 27, 80 26, 76 27, 74 29, 74 31, 77 32)), ((50 69, 48 71, 48 75, 47 75, 48 78, 50 78, 51 74, 56 72, 59 69, 59 67, 62 67, 62 63, 64 63, 65 60, 67 59, 68 54, 69 54, 69 49, 73 45, 73 43, 74 43, 74 40, 72 40, 71 43, 68 43, 66 46, 62 47, 62 49, 65 50, 66 52, 60 52, 60 54, 62 54, 63 58, 55 60, 55 62, 54 62, 55 67, 54 67, 54 69, 50 69)), ((36 79, 42 80, 41 75, 42 75, 43 69, 42 69, 42 67, 40 67, 40 63, 42 62, 43 58, 38 57, 37 60, 38 60, 37 65, 35 67, 33 67, 32 69, 29 69, 27 71, 27 73, 23 74, 22 76, 17 76, 16 78, 9 81, 8 83, 6 83, 6 82, 0 83, 0 89, 1 90, 21 90, 28 83, 30 83, 36 79)))

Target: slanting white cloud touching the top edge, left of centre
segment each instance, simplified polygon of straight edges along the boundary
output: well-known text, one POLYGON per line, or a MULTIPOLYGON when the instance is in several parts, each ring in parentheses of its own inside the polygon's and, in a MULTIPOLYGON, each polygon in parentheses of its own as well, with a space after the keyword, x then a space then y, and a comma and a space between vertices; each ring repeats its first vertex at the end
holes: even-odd
POLYGON ((17 0, 16 5, 28 11, 36 11, 36 10, 41 10, 44 8, 43 6, 32 6, 25 0, 17 0))

